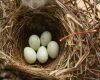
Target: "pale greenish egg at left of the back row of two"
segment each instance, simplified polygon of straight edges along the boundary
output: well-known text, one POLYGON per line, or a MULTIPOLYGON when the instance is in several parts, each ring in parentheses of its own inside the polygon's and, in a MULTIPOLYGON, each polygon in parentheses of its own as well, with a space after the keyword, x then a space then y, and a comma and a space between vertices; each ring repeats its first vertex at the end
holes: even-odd
POLYGON ((29 38, 29 46, 34 50, 38 50, 40 47, 40 39, 37 35, 31 35, 29 38))

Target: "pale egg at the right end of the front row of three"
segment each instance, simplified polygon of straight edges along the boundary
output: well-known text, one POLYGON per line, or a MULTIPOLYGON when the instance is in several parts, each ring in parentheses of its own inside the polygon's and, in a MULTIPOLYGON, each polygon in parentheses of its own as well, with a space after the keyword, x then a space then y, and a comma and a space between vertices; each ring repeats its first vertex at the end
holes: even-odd
POLYGON ((55 59, 59 53, 58 43, 55 41, 51 41, 47 46, 47 52, 52 59, 55 59))

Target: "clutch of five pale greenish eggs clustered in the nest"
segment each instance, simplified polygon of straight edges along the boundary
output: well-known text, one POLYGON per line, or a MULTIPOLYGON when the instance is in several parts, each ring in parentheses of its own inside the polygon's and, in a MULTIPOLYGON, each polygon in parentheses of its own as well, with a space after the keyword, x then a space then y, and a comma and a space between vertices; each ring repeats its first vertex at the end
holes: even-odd
POLYGON ((49 57, 55 59, 59 53, 59 45, 52 41, 49 31, 44 31, 40 38, 38 35, 31 35, 28 43, 29 47, 24 48, 24 58, 28 64, 33 64, 36 60, 46 63, 49 57))

